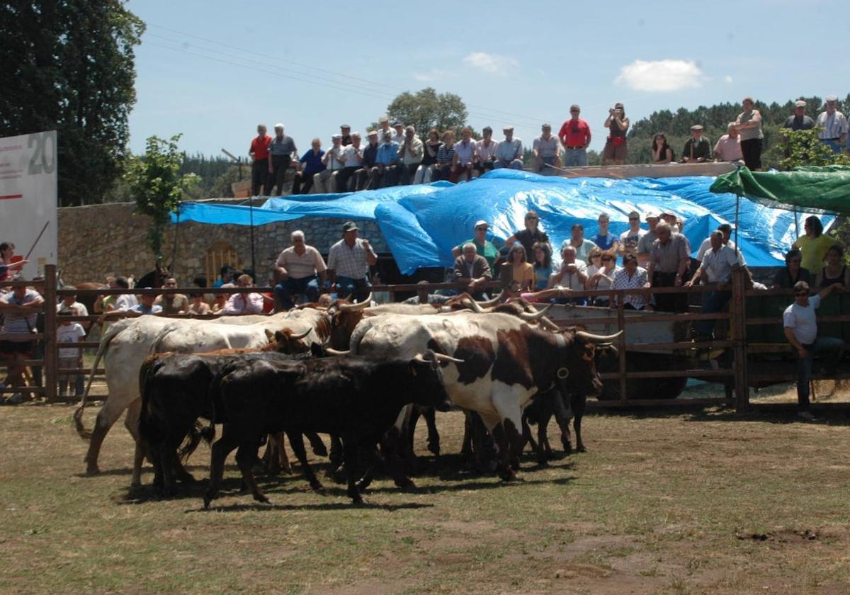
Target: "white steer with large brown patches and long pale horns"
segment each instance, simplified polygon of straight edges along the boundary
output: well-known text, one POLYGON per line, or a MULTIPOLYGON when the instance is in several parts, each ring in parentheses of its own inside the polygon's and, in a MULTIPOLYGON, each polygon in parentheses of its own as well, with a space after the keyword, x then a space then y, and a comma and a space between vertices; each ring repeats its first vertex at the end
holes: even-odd
POLYGON ((464 360, 446 368, 446 390, 452 403, 481 416, 499 445, 502 478, 513 479, 524 407, 550 388, 598 394, 596 346, 615 337, 545 331, 510 314, 377 316, 354 329, 350 353, 382 360, 431 348, 464 360))

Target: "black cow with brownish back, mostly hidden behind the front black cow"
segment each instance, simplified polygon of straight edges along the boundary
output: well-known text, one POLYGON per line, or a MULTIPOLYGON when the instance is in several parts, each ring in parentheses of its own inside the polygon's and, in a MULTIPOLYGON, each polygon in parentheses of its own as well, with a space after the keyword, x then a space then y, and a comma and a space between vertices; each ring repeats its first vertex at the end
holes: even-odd
MULTIPOLYGON (((215 406, 210 386, 224 365, 254 360, 305 359, 309 356, 241 349, 207 354, 150 355, 139 369, 139 393, 142 395, 139 434, 148 447, 154 466, 154 485, 168 496, 173 496, 177 489, 175 479, 192 480, 180 463, 177 450, 187 438, 183 457, 188 457, 195 450, 201 439, 201 432, 195 426, 198 418, 222 421, 216 418, 215 413, 223 411, 223 408, 215 406)), ((314 450, 325 448, 315 435, 310 436, 310 442, 314 450)), ((314 489, 321 489, 318 482, 312 485, 314 489)))

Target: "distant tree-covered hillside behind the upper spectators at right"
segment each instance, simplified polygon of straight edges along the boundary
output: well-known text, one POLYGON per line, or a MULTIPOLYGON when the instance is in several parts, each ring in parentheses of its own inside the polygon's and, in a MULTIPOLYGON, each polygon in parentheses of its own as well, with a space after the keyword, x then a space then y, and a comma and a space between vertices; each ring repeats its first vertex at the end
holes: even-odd
MULTIPOLYGON (((785 123, 788 116, 794 113, 794 101, 798 98, 789 99, 785 104, 765 104, 756 101, 756 109, 762 114, 762 131, 764 132, 764 150, 762 162, 765 168, 778 167, 782 158, 782 150, 779 146, 779 128, 785 123)), ((823 111, 824 101, 820 97, 803 97, 808 103, 806 113, 816 118, 823 111)), ((842 106, 850 106, 850 94, 840 102, 839 110, 847 113, 842 106)), ((649 117, 632 122, 629 129, 629 163, 649 163, 652 160, 652 138, 655 133, 666 134, 667 143, 676 153, 676 158, 682 156, 685 141, 690 137, 690 127, 694 124, 702 124, 706 127, 704 133, 711 140, 711 146, 726 133, 729 122, 734 122, 740 114, 740 103, 723 103, 709 107, 700 105, 696 110, 690 111, 679 108, 675 113, 669 110, 656 111, 649 117)), ((626 106, 626 114, 628 106, 626 106)))

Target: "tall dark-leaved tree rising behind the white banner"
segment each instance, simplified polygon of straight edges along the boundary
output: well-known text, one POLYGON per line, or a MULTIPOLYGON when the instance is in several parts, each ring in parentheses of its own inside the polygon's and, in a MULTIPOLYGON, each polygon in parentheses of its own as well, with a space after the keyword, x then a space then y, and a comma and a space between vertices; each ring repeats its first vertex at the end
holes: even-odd
POLYGON ((133 48, 123 0, 0 3, 0 136, 57 131, 59 201, 103 201, 127 158, 133 48))

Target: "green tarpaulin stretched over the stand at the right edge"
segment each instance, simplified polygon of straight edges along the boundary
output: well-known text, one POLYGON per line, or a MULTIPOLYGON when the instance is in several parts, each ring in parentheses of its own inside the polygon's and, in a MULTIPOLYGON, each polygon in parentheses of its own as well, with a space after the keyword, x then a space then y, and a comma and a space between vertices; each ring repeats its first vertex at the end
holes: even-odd
POLYGON ((751 172, 741 167, 717 176, 709 189, 746 196, 768 207, 850 213, 850 167, 798 167, 792 172, 751 172))

